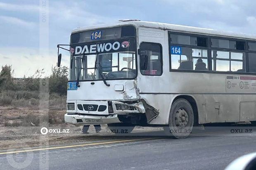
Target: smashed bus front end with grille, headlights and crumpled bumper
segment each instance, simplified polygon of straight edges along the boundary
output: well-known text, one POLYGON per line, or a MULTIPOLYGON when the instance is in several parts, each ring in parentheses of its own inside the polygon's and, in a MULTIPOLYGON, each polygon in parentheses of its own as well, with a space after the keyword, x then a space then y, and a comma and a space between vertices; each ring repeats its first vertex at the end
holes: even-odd
POLYGON ((145 114, 147 123, 159 115, 159 111, 145 100, 135 101, 68 101, 74 102, 75 110, 67 110, 65 122, 75 125, 120 123, 118 115, 145 114), (104 108, 101 109, 101 108, 104 108))

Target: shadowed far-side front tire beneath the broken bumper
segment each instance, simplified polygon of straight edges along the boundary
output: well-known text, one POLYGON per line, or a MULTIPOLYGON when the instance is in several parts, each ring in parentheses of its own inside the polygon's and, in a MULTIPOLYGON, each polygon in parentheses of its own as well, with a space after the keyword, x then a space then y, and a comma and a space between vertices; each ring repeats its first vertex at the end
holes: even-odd
POLYGON ((127 123, 111 123, 107 124, 109 130, 115 134, 127 134, 133 131, 134 125, 127 123))

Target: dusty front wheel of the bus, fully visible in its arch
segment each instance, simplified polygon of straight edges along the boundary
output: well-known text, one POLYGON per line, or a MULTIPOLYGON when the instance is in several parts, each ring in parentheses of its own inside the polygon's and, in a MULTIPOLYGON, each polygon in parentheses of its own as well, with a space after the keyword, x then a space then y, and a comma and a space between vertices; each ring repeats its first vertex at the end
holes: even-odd
POLYGON ((194 125, 193 108, 186 99, 178 99, 171 105, 169 126, 164 127, 168 135, 183 139, 190 135, 194 125))

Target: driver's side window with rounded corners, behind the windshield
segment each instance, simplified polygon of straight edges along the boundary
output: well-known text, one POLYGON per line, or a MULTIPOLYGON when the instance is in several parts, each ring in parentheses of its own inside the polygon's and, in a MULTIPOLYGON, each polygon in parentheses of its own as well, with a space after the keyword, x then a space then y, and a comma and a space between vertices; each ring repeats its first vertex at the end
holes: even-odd
POLYGON ((162 75, 162 47, 161 44, 152 42, 142 42, 140 44, 140 51, 145 51, 145 58, 140 57, 140 65, 145 65, 145 68, 140 68, 142 75, 162 75))

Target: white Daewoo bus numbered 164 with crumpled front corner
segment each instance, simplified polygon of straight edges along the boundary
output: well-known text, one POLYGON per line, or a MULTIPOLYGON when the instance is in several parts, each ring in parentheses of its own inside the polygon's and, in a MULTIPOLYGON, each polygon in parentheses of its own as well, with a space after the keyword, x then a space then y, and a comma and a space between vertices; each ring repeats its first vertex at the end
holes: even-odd
POLYGON ((66 123, 184 138, 194 125, 256 121, 256 36, 126 20, 77 28, 68 46, 66 123))

